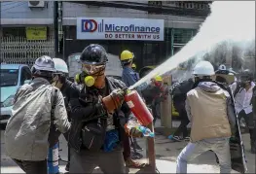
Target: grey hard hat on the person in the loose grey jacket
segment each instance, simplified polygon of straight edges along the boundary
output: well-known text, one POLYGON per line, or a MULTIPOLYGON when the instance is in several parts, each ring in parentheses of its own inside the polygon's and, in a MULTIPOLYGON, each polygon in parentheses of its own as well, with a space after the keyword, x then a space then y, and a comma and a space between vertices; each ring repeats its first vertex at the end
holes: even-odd
POLYGON ((31 72, 33 75, 52 77, 56 72, 53 58, 48 55, 40 56, 35 60, 31 72))

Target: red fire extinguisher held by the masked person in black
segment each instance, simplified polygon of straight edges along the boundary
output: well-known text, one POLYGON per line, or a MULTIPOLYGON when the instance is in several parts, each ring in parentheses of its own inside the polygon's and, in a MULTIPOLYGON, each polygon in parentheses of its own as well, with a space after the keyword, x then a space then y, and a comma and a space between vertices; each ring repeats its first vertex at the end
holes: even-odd
POLYGON ((133 115, 142 125, 147 126, 153 122, 154 118, 152 114, 136 90, 128 90, 125 101, 133 115))

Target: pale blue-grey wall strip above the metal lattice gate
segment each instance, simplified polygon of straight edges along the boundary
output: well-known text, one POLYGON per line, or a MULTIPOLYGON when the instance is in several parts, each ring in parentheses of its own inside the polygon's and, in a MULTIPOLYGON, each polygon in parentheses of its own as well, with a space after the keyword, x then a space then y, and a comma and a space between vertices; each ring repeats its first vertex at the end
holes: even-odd
POLYGON ((1 2, 1 24, 53 24, 54 2, 45 1, 44 8, 29 8, 28 1, 1 2))

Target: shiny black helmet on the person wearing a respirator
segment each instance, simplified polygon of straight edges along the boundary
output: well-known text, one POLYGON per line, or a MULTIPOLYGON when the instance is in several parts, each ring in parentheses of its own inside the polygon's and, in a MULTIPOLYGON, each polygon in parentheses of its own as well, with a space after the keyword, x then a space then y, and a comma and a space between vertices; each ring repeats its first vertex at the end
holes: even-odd
POLYGON ((102 46, 98 44, 91 44, 81 53, 80 61, 91 65, 106 64, 107 52, 102 46))

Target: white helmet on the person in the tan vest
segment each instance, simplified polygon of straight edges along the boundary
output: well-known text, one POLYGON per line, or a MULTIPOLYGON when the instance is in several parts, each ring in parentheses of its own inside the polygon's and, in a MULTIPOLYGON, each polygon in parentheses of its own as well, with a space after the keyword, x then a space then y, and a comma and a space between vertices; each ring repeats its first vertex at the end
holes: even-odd
POLYGON ((215 72, 209 61, 201 61, 194 67, 193 74, 198 76, 212 76, 215 72))

